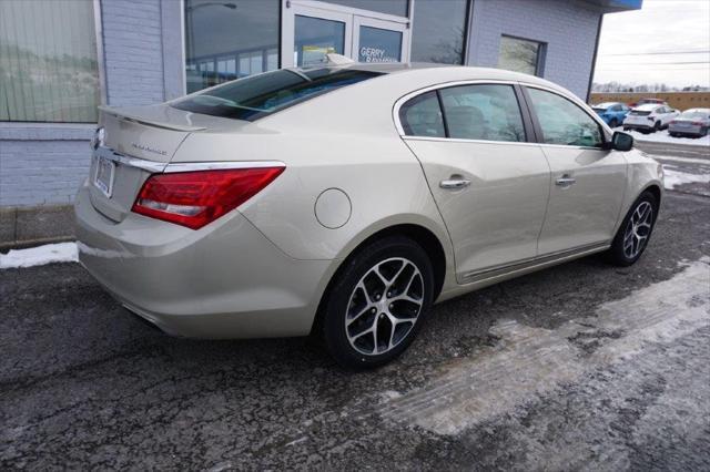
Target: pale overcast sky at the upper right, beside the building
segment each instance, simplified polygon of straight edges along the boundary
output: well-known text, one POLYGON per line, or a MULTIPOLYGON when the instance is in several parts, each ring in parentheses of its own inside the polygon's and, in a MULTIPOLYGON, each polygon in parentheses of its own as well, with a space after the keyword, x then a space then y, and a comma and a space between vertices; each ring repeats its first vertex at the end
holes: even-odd
POLYGON ((604 17, 595 82, 710 86, 710 0, 643 0, 604 17))

